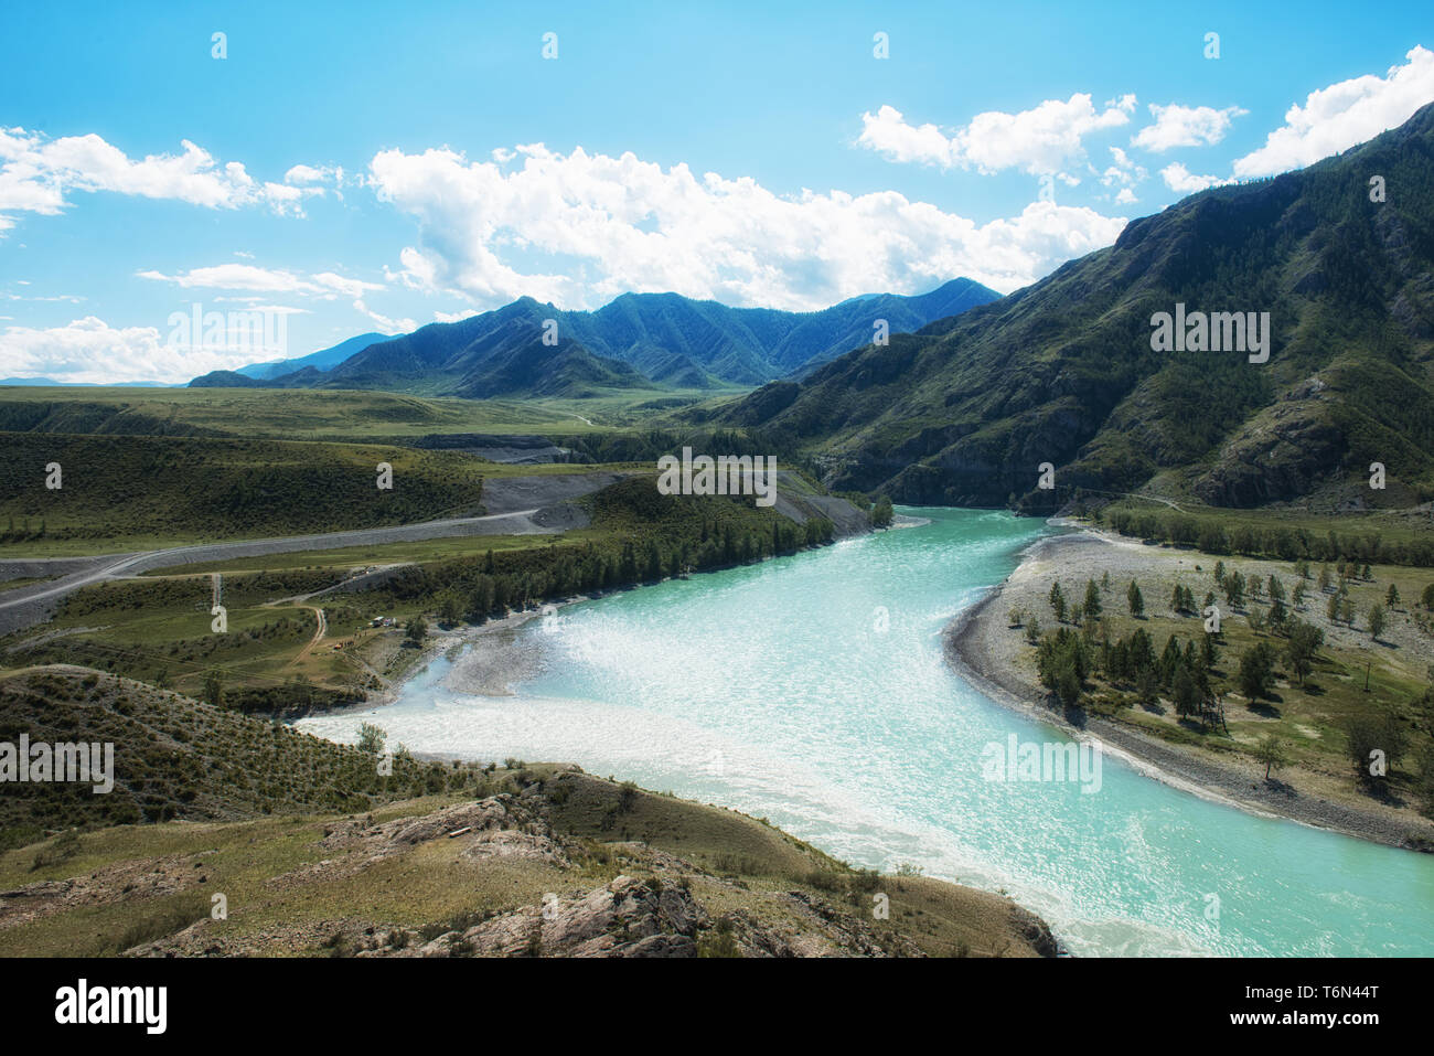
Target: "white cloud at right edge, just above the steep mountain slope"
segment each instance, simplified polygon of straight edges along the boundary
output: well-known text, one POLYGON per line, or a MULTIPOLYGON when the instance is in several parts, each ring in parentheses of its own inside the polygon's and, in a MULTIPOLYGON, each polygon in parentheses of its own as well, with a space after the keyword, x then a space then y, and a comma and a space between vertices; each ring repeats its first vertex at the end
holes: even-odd
POLYGON ((1411 47, 1402 66, 1384 77, 1367 75, 1311 92, 1291 106, 1283 128, 1265 145, 1235 162, 1240 178, 1269 176, 1302 168, 1402 125, 1434 100, 1434 52, 1411 47))

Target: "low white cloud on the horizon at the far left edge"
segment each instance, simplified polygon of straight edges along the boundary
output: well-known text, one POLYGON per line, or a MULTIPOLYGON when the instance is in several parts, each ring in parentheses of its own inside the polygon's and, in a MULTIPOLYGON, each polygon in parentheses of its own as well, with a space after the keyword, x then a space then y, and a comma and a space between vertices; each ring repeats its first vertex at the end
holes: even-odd
POLYGON ((0 331, 0 376, 57 382, 188 382, 252 362, 254 347, 188 347, 151 326, 112 327, 86 316, 62 327, 0 331))

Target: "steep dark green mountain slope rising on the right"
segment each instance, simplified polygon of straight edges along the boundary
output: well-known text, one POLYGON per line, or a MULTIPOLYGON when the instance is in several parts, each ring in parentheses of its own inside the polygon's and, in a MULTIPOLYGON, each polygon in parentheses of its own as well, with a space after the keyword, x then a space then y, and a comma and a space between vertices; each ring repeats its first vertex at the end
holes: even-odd
POLYGON ((1431 356, 1434 105, 1308 169, 1136 220, 1010 297, 707 418, 783 430, 827 486, 906 502, 1051 508, 1074 488, 1160 478, 1212 505, 1411 505, 1434 498, 1431 356), (1371 201, 1374 176, 1387 201, 1371 201), (1177 304, 1269 313, 1269 360, 1153 350, 1153 316, 1177 304), (1054 492, 1037 491, 1043 462, 1054 492), (1368 486, 1372 462, 1384 492, 1368 486))

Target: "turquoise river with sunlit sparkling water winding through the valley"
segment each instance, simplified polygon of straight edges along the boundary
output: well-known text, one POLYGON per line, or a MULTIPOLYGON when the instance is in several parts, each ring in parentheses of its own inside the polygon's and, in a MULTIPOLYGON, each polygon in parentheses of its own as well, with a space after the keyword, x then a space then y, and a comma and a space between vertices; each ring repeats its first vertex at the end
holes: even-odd
POLYGON ((1061 740, 945 663, 942 628, 1048 529, 1007 514, 694 575, 525 624, 513 696, 445 686, 371 720, 417 752, 565 760, 763 816, 852 865, 1005 891, 1078 956, 1434 954, 1434 857, 1255 816, 1106 755, 1093 782, 992 781, 987 746, 1061 740), (1084 791, 1091 789, 1091 791, 1084 791))

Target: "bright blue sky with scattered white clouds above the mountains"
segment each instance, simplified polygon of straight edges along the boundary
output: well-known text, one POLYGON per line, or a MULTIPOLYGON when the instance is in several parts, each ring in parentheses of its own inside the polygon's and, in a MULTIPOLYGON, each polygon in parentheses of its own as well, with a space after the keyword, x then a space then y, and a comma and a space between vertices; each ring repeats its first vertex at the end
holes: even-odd
POLYGON ((522 296, 1011 293, 1434 100, 1428 0, 3 19, 0 377, 76 383, 184 382, 522 296))

